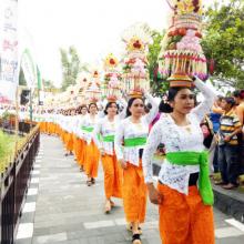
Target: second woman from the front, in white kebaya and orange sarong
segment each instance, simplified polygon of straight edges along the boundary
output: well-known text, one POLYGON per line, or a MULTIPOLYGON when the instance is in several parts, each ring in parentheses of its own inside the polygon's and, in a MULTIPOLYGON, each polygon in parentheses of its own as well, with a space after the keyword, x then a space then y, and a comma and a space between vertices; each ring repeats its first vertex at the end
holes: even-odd
POLYGON ((123 169, 122 196, 126 222, 133 233, 133 244, 141 243, 140 224, 145 220, 146 185, 142 171, 142 153, 149 134, 149 124, 157 113, 154 99, 145 94, 152 109, 144 114, 142 98, 132 98, 128 102, 128 118, 121 121, 115 133, 115 152, 123 169))

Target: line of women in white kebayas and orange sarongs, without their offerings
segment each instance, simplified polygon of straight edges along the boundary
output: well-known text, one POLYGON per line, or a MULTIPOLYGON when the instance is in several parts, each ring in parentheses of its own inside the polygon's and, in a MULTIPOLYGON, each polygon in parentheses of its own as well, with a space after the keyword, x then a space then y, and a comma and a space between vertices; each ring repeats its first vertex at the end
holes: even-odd
POLYGON ((144 94, 152 104, 149 113, 142 98, 131 98, 126 115, 124 111, 119 114, 116 102, 109 102, 103 116, 98 114, 95 103, 90 103, 88 111, 81 106, 77 115, 59 116, 59 135, 87 174, 88 186, 95 184, 101 159, 104 212, 110 213, 114 206, 112 197, 122 199, 133 244, 141 243, 148 194, 150 201, 159 205, 163 244, 214 243, 213 192, 200 123, 211 110, 215 94, 200 80, 194 84, 205 100, 194 108, 191 89, 171 88, 170 113, 161 115, 150 135, 149 125, 159 108, 150 94, 144 94), (70 141, 72 148, 69 148, 70 141), (161 143, 166 159, 155 187, 152 160, 161 143))

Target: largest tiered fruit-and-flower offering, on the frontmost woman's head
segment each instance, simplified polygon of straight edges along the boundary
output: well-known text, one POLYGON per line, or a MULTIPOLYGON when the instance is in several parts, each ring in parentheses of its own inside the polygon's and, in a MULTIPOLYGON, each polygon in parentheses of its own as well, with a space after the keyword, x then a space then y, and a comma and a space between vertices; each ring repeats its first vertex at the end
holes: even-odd
POLYGON ((190 77, 197 75, 202 80, 209 77, 207 61, 201 47, 202 1, 166 1, 174 14, 161 44, 159 71, 162 75, 170 77, 167 80, 171 87, 191 87, 190 77))

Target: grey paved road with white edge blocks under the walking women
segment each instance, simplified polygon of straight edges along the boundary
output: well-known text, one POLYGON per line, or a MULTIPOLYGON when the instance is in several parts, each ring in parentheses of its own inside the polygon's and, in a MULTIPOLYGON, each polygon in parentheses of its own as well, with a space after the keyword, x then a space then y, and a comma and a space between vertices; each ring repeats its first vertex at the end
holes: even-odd
MULTIPOLYGON (((88 187, 72 156, 64 157, 58 138, 41 136, 17 244, 125 244, 121 201, 109 215, 103 214, 103 175, 88 187)), ((244 225, 214 210, 217 244, 243 244, 244 225), (230 222, 230 223, 227 223, 230 222), (233 225, 234 224, 234 225, 233 225)), ((160 244, 156 206, 149 204, 143 226, 143 244, 160 244)))

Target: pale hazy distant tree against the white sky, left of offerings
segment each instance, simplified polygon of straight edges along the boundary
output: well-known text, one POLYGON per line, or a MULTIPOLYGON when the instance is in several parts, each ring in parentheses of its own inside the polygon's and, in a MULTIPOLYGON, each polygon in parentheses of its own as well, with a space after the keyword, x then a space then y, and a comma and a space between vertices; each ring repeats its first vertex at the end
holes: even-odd
POLYGON ((62 91, 68 87, 75 84, 75 80, 80 71, 85 70, 84 65, 81 65, 80 57, 74 47, 60 49, 61 63, 62 63, 62 91))

